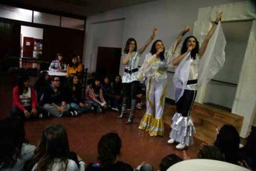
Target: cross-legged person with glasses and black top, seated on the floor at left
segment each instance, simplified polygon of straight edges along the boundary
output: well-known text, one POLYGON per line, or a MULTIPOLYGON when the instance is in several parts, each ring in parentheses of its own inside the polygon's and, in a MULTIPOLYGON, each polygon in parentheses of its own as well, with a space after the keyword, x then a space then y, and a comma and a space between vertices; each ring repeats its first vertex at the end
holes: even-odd
POLYGON ((73 111, 69 111, 70 105, 64 101, 63 92, 60 90, 60 78, 58 76, 52 76, 51 87, 45 90, 43 108, 56 117, 76 115, 73 111))

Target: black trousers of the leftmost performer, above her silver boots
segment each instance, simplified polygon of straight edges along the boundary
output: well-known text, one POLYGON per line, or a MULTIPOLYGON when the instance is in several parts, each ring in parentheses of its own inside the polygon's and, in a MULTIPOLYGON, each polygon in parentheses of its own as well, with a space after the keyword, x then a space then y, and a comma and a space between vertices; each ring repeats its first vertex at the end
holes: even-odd
POLYGON ((128 99, 136 99, 140 81, 123 83, 123 97, 128 99))

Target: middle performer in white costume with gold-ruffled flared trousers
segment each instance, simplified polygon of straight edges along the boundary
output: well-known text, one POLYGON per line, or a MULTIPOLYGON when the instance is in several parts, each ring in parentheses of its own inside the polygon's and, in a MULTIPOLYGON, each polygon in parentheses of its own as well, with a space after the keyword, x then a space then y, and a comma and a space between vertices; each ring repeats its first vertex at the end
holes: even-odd
POLYGON ((138 78, 146 77, 146 113, 140 121, 139 129, 149 132, 151 136, 163 136, 163 108, 167 90, 167 69, 172 66, 173 54, 176 46, 190 30, 187 26, 169 51, 164 51, 161 40, 156 40, 149 54, 139 70, 138 78), (155 117, 153 116, 155 110, 155 117))

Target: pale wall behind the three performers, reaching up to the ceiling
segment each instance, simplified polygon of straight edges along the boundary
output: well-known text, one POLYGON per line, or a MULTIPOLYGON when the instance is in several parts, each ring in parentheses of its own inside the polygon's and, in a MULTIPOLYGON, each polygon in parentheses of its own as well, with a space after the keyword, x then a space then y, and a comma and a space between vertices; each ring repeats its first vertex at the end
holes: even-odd
MULTIPOLYGON (((90 61, 95 58, 95 56, 92 55, 95 53, 92 48, 95 39, 92 39, 92 37, 101 33, 92 31, 92 23, 125 18, 122 47, 124 47, 126 40, 130 37, 134 37, 137 40, 139 47, 142 46, 145 40, 151 36, 152 27, 155 25, 155 27, 158 28, 158 33, 155 40, 163 40, 164 46, 168 48, 173 40, 175 40, 177 34, 179 34, 186 25, 192 26, 193 29, 193 23, 198 18, 199 8, 237 1, 240 0, 160 0, 120 8, 118 10, 108 11, 95 16, 89 16, 87 17, 86 21, 84 64, 86 67, 89 67, 89 71, 94 71, 90 70, 90 67, 92 66, 90 65, 90 61)), ((193 30, 187 35, 192 33, 193 30)), ((102 37, 102 39, 104 38, 102 37)), ((149 52, 149 49, 150 47, 146 49, 142 57, 149 52)), ((143 58, 140 60, 140 62, 142 62, 142 60, 143 58)), ((122 64, 120 64, 119 73, 120 75, 123 74, 122 64)), ((172 73, 168 73, 168 89, 166 94, 167 98, 171 99, 174 98, 172 76, 172 73)))

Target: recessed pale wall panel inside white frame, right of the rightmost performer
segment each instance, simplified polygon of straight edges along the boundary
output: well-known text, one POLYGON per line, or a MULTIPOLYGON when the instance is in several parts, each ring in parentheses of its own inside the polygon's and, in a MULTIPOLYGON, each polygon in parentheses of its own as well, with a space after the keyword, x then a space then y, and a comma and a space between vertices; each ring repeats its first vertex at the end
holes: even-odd
MULTIPOLYGON (((223 68, 213 79, 238 84, 251 27, 252 21, 222 23, 227 42, 225 47, 226 59, 223 68)), ((210 81, 207 85, 204 102, 222 105, 231 109, 236 90, 236 85, 210 81)))

